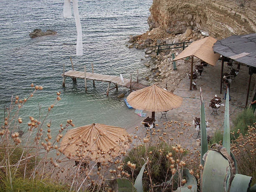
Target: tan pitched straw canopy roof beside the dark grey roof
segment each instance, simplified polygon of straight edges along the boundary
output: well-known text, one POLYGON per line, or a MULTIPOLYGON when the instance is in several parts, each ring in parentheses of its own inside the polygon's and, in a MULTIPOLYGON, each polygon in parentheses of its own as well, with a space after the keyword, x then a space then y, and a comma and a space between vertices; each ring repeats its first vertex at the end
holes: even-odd
POLYGON ((220 58, 220 54, 214 53, 212 46, 217 40, 213 37, 205 37, 198 41, 194 41, 186 49, 184 49, 175 59, 183 59, 188 56, 195 56, 202 61, 214 66, 220 58))

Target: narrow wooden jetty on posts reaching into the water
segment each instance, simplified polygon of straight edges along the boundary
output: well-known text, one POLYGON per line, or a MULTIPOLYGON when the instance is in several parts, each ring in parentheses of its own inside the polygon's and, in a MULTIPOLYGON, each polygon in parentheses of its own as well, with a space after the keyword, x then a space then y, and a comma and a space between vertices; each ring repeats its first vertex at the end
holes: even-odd
POLYGON ((108 96, 108 92, 110 90, 113 90, 113 89, 118 90, 118 85, 130 88, 131 92, 132 92, 132 90, 140 90, 142 88, 148 87, 147 85, 141 84, 141 83, 138 82, 138 70, 137 70, 137 82, 133 82, 131 80, 131 74, 130 74, 130 79, 125 79, 125 78, 121 79, 121 77, 118 76, 118 75, 106 75, 106 74, 94 73, 93 72, 93 65, 92 65, 92 73, 86 72, 86 67, 85 66, 84 66, 84 72, 75 71, 74 67, 73 67, 72 59, 70 58, 70 60, 71 60, 73 70, 65 72, 65 66, 63 64, 63 74, 61 74, 61 76, 63 77, 63 79, 62 79, 62 86, 63 87, 65 87, 65 79, 67 77, 71 77, 74 82, 76 82, 77 78, 84 79, 84 84, 85 84, 85 90, 86 91, 87 91, 87 82, 86 82, 87 79, 93 81, 93 86, 94 87, 95 87, 95 81, 108 82, 107 96, 108 96), (111 83, 115 84, 115 87, 110 88, 111 83))

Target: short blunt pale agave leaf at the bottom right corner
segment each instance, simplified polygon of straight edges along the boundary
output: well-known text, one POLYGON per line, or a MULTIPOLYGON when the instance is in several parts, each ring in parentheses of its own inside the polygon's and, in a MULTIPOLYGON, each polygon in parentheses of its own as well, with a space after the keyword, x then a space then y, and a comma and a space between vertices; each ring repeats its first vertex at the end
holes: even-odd
POLYGON ((236 174, 230 187, 230 192, 247 192, 250 187, 251 177, 236 174))

